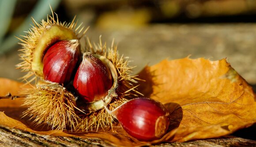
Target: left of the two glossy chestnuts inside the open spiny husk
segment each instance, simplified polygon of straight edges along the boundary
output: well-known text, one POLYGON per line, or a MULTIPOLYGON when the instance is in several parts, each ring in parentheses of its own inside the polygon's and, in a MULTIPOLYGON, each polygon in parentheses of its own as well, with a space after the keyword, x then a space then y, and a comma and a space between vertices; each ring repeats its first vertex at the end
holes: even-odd
POLYGON ((59 84, 68 84, 78 59, 78 40, 62 40, 54 43, 43 57, 44 79, 59 84))

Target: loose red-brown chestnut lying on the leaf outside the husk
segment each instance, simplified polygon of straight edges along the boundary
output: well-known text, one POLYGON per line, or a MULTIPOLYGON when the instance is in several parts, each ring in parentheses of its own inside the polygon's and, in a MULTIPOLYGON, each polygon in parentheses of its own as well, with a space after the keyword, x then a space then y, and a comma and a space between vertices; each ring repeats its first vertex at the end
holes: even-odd
POLYGON ((161 138, 169 126, 169 113, 163 104, 148 98, 136 98, 111 111, 123 129, 141 141, 161 138))

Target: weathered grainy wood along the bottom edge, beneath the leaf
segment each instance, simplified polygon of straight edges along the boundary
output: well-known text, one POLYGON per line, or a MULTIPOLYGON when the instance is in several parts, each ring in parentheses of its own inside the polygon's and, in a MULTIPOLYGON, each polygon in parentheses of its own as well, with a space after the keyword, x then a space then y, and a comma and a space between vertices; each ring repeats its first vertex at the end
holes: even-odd
MULTIPOLYGON (((0 125, 0 147, 113 147, 98 139, 59 137, 29 133, 0 125)), ((154 147, 256 147, 256 141, 235 136, 196 140, 185 143, 162 143, 154 147)))

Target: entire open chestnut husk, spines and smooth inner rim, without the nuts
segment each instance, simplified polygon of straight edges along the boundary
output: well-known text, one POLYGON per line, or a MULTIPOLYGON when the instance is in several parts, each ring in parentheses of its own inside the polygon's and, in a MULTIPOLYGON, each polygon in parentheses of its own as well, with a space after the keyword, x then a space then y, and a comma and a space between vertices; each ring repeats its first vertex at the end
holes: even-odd
POLYGON ((107 104, 106 107, 113 110, 127 101, 128 98, 141 94, 136 91, 134 84, 139 79, 136 78, 137 75, 131 75, 133 67, 128 66, 128 60, 119 56, 117 47, 113 43, 107 49, 105 44, 102 45, 100 39, 100 43, 98 45, 94 44, 93 47, 87 38, 85 50, 81 50, 81 53, 90 52, 110 68, 113 76, 113 86, 102 100, 83 103, 81 107, 82 104, 80 105, 79 98, 74 95, 72 87, 69 87, 70 85, 63 86, 43 79, 42 61, 46 50, 54 43, 61 40, 79 40, 84 36, 87 29, 79 37, 78 34, 83 31, 83 27, 82 29, 80 29, 81 25, 76 27, 75 18, 71 23, 61 23, 54 18, 54 15, 49 16, 47 21, 42 20, 41 24, 35 22, 34 19, 33 23, 34 26, 27 32, 27 35, 20 39, 23 49, 20 50, 22 53, 19 56, 22 62, 16 65, 17 68, 22 69, 22 72, 27 72, 22 77, 26 83, 30 84, 32 81, 36 81, 34 88, 22 91, 26 95, 24 105, 28 106, 23 115, 34 119, 36 125, 49 125, 52 129, 67 129, 71 132, 87 131, 89 129, 97 131, 99 126, 112 126, 115 118, 106 112, 104 104, 107 104), (61 99, 63 100, 62 103, 54 102, 60 96, 63 97, 61 99), (72 101, 72 103, 67 101, 72 101), (42 103, 47 105, 40 107, 42 103), (68 108, 72 108, 69 109, 70 111, 66 111, 65 107, 67 105, 68 108), (51 109, 55 106, 58 109, 51 109), (54 111, 56 113, 53 114, 54 111))

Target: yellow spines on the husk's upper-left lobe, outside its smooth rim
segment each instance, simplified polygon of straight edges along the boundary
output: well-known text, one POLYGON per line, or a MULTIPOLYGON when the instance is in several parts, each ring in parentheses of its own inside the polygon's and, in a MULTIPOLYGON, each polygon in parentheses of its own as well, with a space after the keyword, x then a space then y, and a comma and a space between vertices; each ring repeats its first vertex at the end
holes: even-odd
POLYGON ((61 28, 70 30, 76 36, 75 38, 80 39, 85 35, 88 29, 87 28, 84 30, 84 27, 81 27, 82 24, 77 26, 77 21, 75 21, 75 17, 71 23, 59 22, 58 15, 56 14, 56 18, 55 18, 53 11, 52 11, 52 16, 48 16, 46 21, 42 20, 41 24, 37 23, 33 18, 32 18, 32 21, 34 26, 32 26, 32 28, 29 29, 28 31, 26 31, 26 35, 21 36, 21 38, 17 37, 21 41, 21 43, 19 44, 22 46, 22 49, 20 49, 19 51, 22 53, 19 54, 19 56, 22 62, 17 64, 16 68, 21 69, 22 72, 27 72, 27 74, 21 78, 23 79, 23 81, 26 81, 27 83, 30 83, 34 80, 37 82, 38 75, 36 74, 35 71, 32 70, 32 62, 35 54, 34 52, 35 48, 37 47, 38 41, 41 39, 41 36, 45 33, 45 30, 49 29, 51 26, 56 25, 61 28), (82 35, 79 36, 79 34, 82 31, 83 31, 82 35))

